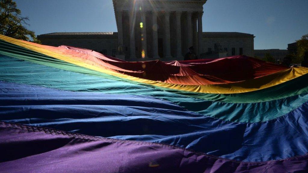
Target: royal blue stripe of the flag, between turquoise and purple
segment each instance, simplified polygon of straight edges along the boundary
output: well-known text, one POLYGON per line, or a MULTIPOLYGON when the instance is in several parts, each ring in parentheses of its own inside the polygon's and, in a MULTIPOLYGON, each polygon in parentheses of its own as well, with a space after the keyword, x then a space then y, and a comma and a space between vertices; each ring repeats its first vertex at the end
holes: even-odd
POLYGON ((0 120, 6 122, 166 143, 247 162, 286 159, 308 149, 307 102, 271 121, 232 123, 149 96, 0 86, 0 120))

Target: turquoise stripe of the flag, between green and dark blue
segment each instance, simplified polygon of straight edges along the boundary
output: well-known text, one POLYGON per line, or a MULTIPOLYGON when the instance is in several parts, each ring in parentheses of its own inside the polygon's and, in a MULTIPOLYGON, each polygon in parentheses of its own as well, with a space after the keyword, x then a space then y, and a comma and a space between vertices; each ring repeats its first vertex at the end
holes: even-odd
POLYGON ((0 57, 0 64, 1 81, 69 91, 148 95, 176 103, 204 116, 234 122, 268 121, 287 114, 308 99, 307 94, 301 94, 260 103, 223 103, 186 97, 149 85, 76 73, 7 56, 0 57))

